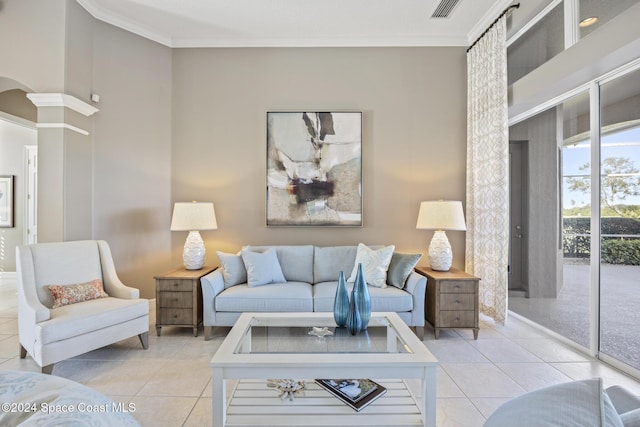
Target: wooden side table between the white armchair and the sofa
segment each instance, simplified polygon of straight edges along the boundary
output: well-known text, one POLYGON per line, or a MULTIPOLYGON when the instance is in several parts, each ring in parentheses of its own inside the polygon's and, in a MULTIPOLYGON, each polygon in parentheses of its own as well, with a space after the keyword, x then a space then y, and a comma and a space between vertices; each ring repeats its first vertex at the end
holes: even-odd
POLYGON ((156 279, 156 333, 162 333, 162 326, 190 326, 193 336, 198 336, 202 323, 202 288, 200 278, 211 273, 216 267, 202 267, 200 270, 176 268, 156 279))

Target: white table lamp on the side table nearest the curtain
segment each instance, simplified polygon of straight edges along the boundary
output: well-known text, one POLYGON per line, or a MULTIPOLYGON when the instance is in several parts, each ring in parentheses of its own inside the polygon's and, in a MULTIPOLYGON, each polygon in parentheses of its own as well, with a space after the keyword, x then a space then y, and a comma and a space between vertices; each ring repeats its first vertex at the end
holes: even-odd
POLYGON ((445 230, 465 231, 467 229, 462 202, 438 200, 420 203, 416 228, 436 230, 429 245, 429 264, 433 270, 449 271, 453 253, 445 230))

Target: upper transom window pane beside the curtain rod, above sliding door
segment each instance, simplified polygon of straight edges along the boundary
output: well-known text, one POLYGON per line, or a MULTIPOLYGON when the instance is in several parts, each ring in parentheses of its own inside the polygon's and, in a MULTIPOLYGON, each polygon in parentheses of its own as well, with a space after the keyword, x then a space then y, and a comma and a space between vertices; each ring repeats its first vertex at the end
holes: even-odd
POLYGON ((508 82, 519 80, 564 49, 564 9, 553 8, 507 49, 508 82))

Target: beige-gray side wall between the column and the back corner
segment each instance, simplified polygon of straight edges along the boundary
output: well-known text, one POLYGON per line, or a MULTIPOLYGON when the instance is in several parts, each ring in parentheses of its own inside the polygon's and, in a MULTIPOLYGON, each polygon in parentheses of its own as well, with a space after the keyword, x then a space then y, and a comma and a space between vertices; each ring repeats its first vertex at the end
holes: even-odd
POLYGON ((153 276, 180 265, 170 259, 172 52, 102 22, 94 31, 93 235, 109 242, 120 278, 154 298, 153 276))

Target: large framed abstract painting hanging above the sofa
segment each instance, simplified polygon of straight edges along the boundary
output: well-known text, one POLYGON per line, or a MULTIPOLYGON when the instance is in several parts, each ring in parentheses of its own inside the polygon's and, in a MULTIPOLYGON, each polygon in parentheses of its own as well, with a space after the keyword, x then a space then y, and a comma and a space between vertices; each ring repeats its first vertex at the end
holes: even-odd
POLYGON ((362 113, 267 113, 267 225, 362 226, 362 113))

